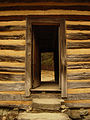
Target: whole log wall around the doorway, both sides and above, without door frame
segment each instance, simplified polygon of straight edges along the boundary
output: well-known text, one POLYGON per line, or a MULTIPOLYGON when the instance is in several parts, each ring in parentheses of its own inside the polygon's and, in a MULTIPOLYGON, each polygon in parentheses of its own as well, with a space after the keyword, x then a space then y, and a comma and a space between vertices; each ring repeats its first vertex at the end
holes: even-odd
MULTIPOLYGON (((47 0, 46 0, 47 1, 47 0)), ((7 0, 0 3, 0 106, 30 105, 25 98, 25 41, 28 15, 57 16, 66 20, 69 107, 90 106, 89 0, 41 2, 7 0)))

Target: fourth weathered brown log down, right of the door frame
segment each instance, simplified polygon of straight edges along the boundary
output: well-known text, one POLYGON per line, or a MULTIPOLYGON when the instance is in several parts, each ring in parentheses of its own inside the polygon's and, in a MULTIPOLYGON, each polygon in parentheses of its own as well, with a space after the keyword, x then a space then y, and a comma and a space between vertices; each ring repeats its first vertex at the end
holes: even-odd
POLYGON ((88 62, 90 61, 90 54, 75 54, 67 55, 68 62, 88 62))

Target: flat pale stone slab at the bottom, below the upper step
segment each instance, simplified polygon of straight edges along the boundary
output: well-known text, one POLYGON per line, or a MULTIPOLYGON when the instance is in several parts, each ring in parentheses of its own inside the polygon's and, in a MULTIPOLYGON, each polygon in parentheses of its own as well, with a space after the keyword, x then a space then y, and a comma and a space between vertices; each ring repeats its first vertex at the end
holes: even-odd
POLYGON ((19 113, 18 120, 71 120, 64 113, 19 113))

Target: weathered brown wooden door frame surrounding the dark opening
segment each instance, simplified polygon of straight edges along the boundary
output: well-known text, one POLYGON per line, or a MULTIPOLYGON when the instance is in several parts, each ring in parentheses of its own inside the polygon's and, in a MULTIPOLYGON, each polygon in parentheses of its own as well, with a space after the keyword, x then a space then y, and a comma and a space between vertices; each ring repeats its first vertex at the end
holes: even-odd
POLYGON ((65 37, 65 20, 50 17, 32 17, 28 16, 26 20, 26 58, 25 58, 25 93, 30 96, 32 88, 32 25, 58 25, 59 27, 59 86, 61 88, 61 96, 67 97, 67 79, 66 79, 66 37, 65 37))

